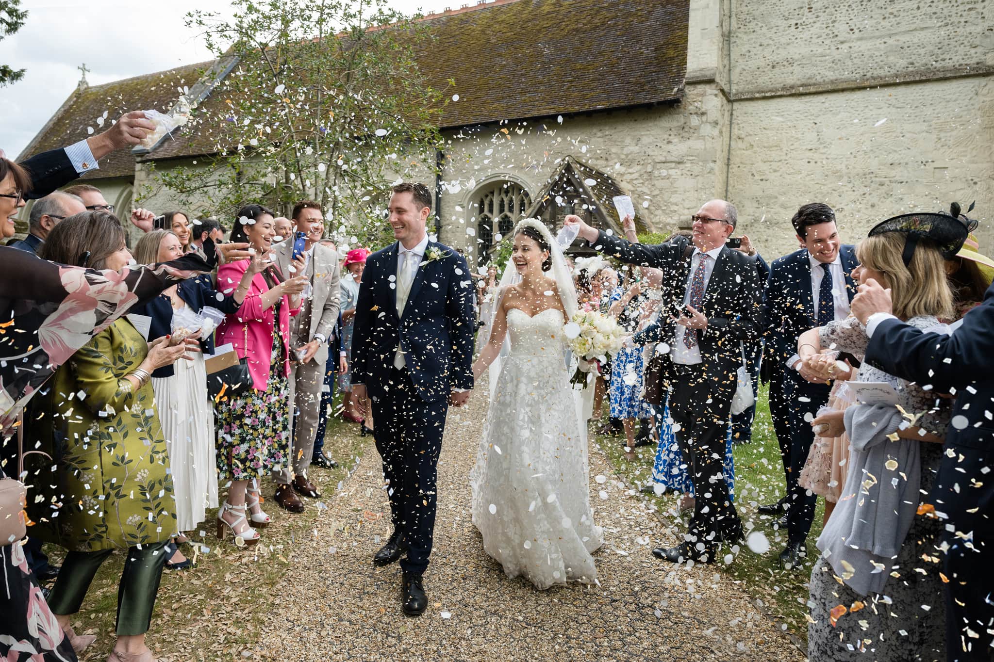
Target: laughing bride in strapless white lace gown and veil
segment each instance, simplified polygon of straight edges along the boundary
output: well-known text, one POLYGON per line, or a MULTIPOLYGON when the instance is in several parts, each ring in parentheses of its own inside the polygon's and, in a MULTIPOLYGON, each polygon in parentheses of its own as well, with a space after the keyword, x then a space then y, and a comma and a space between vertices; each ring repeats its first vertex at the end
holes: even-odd
POLYGON ((538 589, 595 584, 590 553, 602 538, 590 510, 585 421, 564 360, 577 293, 544 223, 526 218, 513 236, 489 341, 473 364, 476 378, 491 371, 490 413, 470 473, 473 524, 508 577, 523 575, 538 589))

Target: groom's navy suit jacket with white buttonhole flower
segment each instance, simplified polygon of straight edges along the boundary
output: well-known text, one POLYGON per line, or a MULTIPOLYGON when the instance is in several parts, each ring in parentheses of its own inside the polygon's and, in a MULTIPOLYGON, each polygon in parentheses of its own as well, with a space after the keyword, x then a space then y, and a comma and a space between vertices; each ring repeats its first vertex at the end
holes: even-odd
POLYGON ((473 283, 461 255, 429 241, 404 315, 397 314, 398 242, 366 258, 352 331, 352 383, 382 397, 398 347, 425 402, 473 388, 473 283), (426 261, 432 248, 442 252, 426 261))

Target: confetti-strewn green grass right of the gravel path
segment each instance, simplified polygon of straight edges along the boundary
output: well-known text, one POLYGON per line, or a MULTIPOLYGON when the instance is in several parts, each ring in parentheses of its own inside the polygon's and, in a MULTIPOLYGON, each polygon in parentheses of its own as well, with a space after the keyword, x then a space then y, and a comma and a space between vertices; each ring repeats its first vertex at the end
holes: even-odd
MULTIPOLYGON (((605 451, 618 475, 633 487, 644 485, 651 479, 655 447, 636 450, 638 460, 628 462, 621 450, 623 435, 619 437, 595 437, 605 451)), ((747 546, 735 557, 731 565, 719 562, 716 567, 742 582, 749 595, 758 600, 757 604, 773 618, 780 627, 796 635, 801 643, 807 639, 807 598, 808 580, 811 567, 816 560, 817 548, 814 541, 821 533, 824 513, 824 500, 818 500, 814 525, 808 537, 808 558, 802 568, 783 570, 777 555, 786 545, 786 531, 774 531, 772 517, 759 515, 755 508, 762 503, 772 503, 783 495, 783 467, 780 463, 780 448, 773 434, 773 424, 769 417, 766 402, 766 387, 761 387, 756 404, 755 422, 752 424, 752 441, 749 444, 736 444, 733 454, 736 463, 736 507, 743 519, 746 535, 748 531, 761 531, 769 540, 769 551, 755 554, 747 546)), ((684 523, 675 522, 666 514, 674 508, 679 496, 667 492, 661 496, 644 496, 657 507, 658 516, 680 532, 686 530, 684 523)), ((728 553, 729 548, 725 548, 728 553)), ((665 563, 661 561, 660 563, 665 563)))

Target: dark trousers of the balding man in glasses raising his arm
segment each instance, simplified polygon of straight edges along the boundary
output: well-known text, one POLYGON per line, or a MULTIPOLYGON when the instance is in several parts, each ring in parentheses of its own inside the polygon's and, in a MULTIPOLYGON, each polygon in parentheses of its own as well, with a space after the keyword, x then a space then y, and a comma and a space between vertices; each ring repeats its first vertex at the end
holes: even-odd
POLYGON ((736 373, 714 363, 708 366, 673 363, 670 370, 673 385, 669 396, 670 418, 680 425, 677 443, 688 465, 696 496, 688 540, 692 547, 714 559, 718 533, 734 534, 742 530, 725 480, 725 447, 732 396, 738 385, 736 373))

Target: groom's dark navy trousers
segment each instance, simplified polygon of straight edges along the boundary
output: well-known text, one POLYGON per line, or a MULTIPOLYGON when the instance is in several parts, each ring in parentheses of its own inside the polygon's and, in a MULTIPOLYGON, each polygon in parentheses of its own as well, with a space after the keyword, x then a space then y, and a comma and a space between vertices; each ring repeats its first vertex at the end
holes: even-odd
POLYGON ((391 370, 386 394, 373 402, 373 436, 383 458, 394 531, 403 533, 408 558, 405 572, 428 567, 434 532, 435 484, 448 400, 424 402, 407 368, 391 370))

